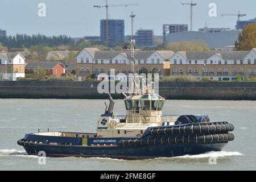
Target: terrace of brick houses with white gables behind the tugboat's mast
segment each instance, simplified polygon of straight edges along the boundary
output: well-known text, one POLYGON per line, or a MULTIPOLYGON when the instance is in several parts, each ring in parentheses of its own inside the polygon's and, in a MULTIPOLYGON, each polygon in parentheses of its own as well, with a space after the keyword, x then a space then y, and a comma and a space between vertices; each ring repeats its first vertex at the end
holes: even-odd
MULTIPOLYGON (((174 55, 173 51, 139 51, 135 54, 135 72, 138 73, 141 68, 146 68, 148 73, 152 73, 154 69, 162 76, 168 75, 169 59, 172 55, 174 55)), ((84 48, 76 57, 77 79, 82 81, 86 76, 97 77, 100 73, 111 76, 110 69, 115 70, 115 75, 118 73, 128 75, 131 73, 130 56, 129 51, 100 51, 97 48, 84 48)))

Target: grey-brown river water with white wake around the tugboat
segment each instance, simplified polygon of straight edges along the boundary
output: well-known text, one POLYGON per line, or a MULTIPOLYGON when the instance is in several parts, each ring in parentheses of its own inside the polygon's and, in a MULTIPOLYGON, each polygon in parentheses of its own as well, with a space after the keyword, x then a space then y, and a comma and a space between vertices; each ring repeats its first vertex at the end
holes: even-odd
MULTIPOLYGON (((28 156, 16 141, 25 133, 77 131, 94 133, 104 112, 105 100, 26 100, 0 99, 0 170, 255 170, 256 101, 168 100, 164 114, 208 114, 211 121, 229 121, 235 139, 221 152, 158 158, 117 160, 105 158, 46 158, 28 156), (209 164, 209 158, 216 164, 209 164)), ((114 112, 125 114, 122 100, 114 112)))

